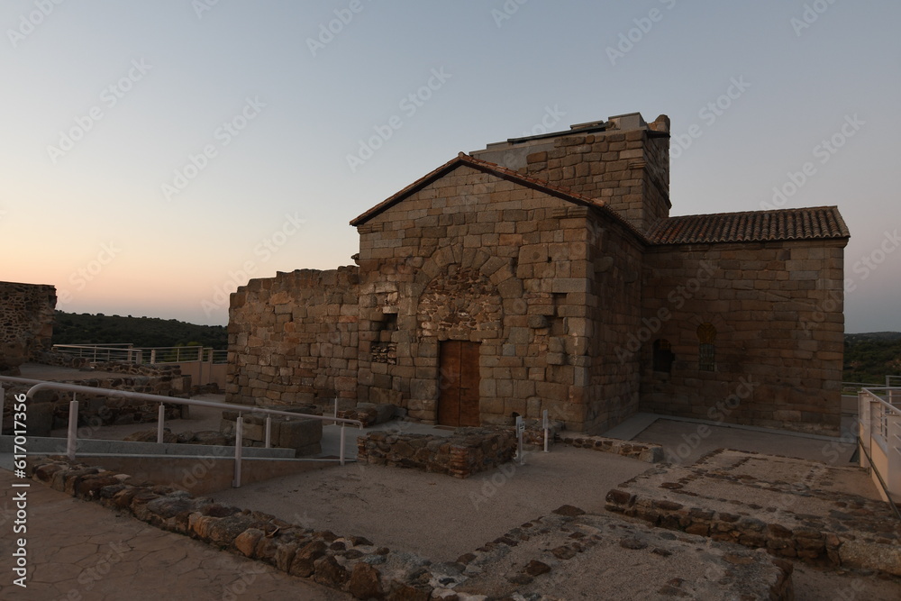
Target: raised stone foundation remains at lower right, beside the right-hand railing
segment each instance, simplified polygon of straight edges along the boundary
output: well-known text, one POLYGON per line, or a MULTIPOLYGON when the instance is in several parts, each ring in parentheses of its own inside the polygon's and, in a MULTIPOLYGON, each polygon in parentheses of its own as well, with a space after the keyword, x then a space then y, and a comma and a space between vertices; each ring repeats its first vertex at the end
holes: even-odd
POLYGON ((781 557, 901 576, 901 522, 887 504, 849 492, 867 485, 860 468, 719 450, 624 482, 606 508, 781 557))

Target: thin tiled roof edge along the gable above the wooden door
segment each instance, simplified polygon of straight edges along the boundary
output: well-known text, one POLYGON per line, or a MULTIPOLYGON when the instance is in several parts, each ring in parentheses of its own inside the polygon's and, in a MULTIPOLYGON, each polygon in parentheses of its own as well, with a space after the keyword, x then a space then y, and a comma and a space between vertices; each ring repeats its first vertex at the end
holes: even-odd
MULTIPOLYGON (((397 203, 403 201, 406 197, 411 196, 423 189, 423 187, 428 186, 436 179, 443 178, 447 174, 451 173, 456 168, 461 166, 467 166, 474 169, 478 169, 483 173, 492 174, 498 178, 506 179, 508 181, 512 181, 520 184, 521 186, 531 187, 535 190, 539 190, 547 195, 556 196, 558 198, 562 198, 563 200, 569 201, 571 203, 575 203, 577 205, 585 205, 585 206, 593 206, 596 208, 603 208, 604 201, 600 199, 588 198, 587 196, 582 196, 580 194, 576 194, 574 192, 569 192, 569 190, 553 187, 548 184, 546 181, 542 181, 541 179, 529 178, 528 176, 523 176, 522 174, 514 171, 513 169, 508 169, 505 167, 501 167, 496 163, 489 162, 487 160, 476 159, 474 157, 470 157, 468 154, 464 152, 460 152, 460 154, 455 159, 451 159, 450 161, 441 165, 441 167, 432 171, 425 175, 423 178, 419 178, 414 181, 409 186, 405 187, 400 192, 396 193, 394 196, 390 196, 386 200, 382 201, 378 205, 373 206, 369 211, 364 214, 359 215, 356 219, 350 222, 350 225, 357 226, 366 223, 372 217, 375 217, 379 213, 385 211, 388 207, 396 205, 397 203)), ((613 211, 606 209, 606 212, 614 215, 616 218, 621 219, 618 214, 615 214, 613 211)), ((623 222, 624 223, 624 222, 623 222)))

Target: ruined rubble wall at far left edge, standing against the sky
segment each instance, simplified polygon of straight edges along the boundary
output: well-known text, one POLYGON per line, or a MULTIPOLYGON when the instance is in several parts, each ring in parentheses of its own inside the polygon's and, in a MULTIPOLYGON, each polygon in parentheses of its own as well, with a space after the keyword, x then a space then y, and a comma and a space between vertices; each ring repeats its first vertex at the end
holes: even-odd
POLYGON ((54 307, 55 287, 0 282, 0 372, 50 350, 54 307))

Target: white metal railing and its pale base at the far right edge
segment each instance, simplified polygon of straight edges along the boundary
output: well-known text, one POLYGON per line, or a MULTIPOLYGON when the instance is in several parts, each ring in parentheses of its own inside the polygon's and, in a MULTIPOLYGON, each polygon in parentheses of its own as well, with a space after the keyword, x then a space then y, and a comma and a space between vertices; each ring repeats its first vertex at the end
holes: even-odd
POLYGON ((901 387, 864 388, 858 404, 860 465, 873 470, 891 502, 901 498, 901 387))

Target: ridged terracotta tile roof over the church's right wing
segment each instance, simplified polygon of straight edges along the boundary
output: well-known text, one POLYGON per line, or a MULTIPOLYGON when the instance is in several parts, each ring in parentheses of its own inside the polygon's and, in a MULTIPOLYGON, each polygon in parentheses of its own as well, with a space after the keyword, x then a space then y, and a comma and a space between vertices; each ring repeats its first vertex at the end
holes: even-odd
POLYGON ((651 244, 849 238, 835 206, 669 217, 647 233, 651 244))

